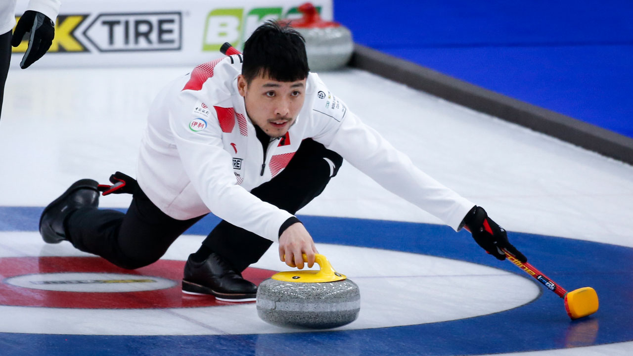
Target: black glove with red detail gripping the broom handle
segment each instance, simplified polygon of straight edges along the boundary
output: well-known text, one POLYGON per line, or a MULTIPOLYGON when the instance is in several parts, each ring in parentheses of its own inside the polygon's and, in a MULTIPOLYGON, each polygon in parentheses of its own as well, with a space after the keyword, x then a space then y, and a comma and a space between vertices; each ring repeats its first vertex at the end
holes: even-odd
POLYGON ((468 231, 473 234, 473 239, 477 245, 481 246, 488 253, 498 260, 505 260, 506 254, 502 249, 508 250, 521 262, 527 262, 527 258, 520 253, 515 246, 508 242, 508 234, 503 227, 488 217, 486 210, 482 207, 474 207, 464 218, 464 224, 468 231))

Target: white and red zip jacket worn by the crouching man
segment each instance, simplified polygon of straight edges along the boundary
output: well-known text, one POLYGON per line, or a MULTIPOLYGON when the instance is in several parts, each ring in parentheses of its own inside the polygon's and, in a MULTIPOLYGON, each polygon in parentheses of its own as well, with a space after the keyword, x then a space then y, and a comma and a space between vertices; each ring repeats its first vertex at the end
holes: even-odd
POLYGON ((474 204, 416 168, 308 75, 303 108, 288 134, 264 156, 237 91, 241 55, 211 61, 174 80, 151 106, 137 167, 139 186, 161 211, 185 220, 213 212, 235 226, 277 241, 291 213, 251 189, 279 174, 312 138, 339 153, 384 188, 453 229, 474 204))

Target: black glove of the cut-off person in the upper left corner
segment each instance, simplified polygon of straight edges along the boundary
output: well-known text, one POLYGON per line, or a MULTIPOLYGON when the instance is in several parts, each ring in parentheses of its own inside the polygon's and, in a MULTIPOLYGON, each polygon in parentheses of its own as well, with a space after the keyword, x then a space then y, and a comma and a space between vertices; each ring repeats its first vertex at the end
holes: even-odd
POLYGON ((27 10, 15 26, 11 45, 13 47, 20 46, 22 38, 28 32, 30 32, 30 37, 28 38, 27 52, 20 62, 22 69, 28 68, 34 61, 42 58, 51 47, 53 37, 55 37, 55 24, 43 13, 27 10))

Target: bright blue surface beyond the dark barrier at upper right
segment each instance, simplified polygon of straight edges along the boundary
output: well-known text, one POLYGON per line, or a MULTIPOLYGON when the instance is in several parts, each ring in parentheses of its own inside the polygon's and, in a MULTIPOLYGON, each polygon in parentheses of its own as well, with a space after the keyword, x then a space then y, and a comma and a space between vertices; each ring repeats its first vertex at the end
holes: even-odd
POLYGON ((633 137, 633 1, 335 0, 354 41, 633 137))

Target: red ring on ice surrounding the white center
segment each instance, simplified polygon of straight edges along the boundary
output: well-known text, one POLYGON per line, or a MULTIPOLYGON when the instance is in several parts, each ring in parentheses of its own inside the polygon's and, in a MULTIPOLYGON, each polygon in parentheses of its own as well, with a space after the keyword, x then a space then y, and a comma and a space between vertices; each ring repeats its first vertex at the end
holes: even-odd
MULTIPOLYGON (((100 257, 4 257, 0 258, 0 305, 47 308, 192 308, 235 305, 220 302, 213 296, 197 296, 182 293, 180 281, 184 261, 158 260, 154 264, 136 270, 116 267, 100 257), (64 272, 118 273, 130 278, 155 276, 175 281, 175 286, 149 291, 118 293, 49 291, 13 286, 6 283, 9 277, 25 274, 64 272)), ((242 274, 249 281, 260 284, 276 271, 248 268, 242 274)))

